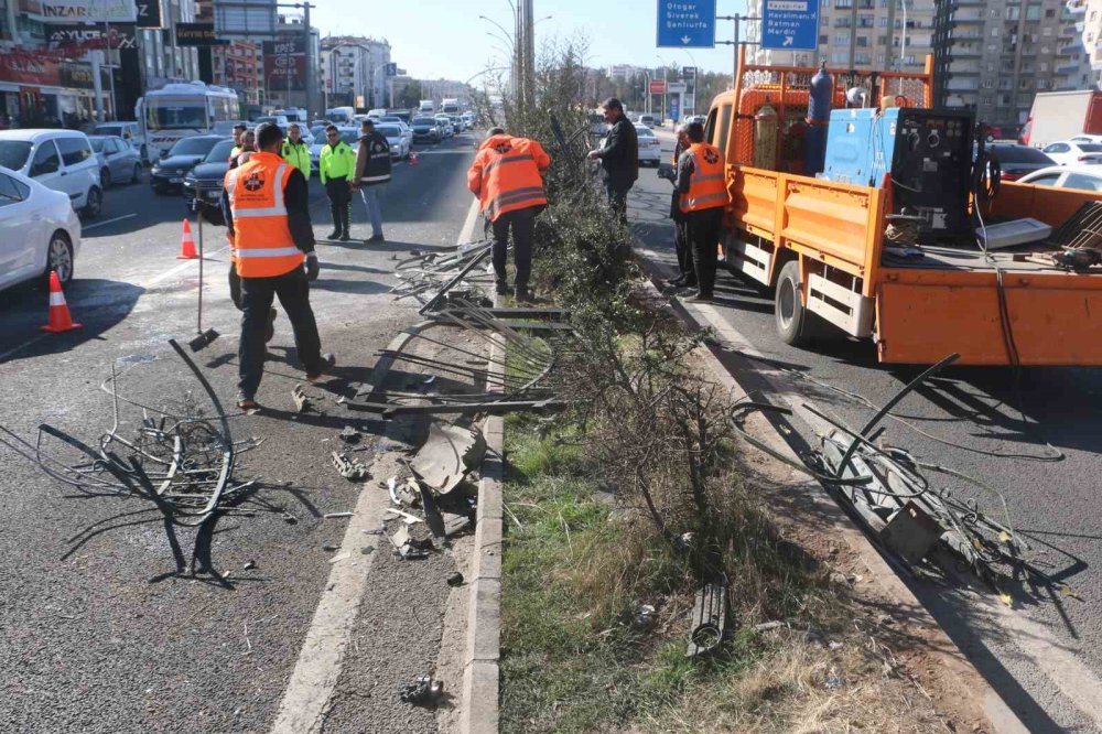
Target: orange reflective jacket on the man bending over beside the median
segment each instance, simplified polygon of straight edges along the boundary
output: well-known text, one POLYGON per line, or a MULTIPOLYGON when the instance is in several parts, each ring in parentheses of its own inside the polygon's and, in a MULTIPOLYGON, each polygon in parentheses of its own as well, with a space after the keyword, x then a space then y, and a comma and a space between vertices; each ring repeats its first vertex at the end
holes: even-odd
POLYGON ((547 206, 541 173, 551 165, 543 147, 527 138, 494 136, 478 149, 467 171, 467 187, 478 195, 490 222, 507 212, 547 206))

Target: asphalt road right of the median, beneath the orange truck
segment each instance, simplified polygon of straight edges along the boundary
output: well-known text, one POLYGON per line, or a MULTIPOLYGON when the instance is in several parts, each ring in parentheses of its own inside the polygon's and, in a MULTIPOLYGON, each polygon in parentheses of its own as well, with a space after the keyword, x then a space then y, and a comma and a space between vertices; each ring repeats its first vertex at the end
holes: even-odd
MULTIPOLYGON (((672 140, 663 142, 669 156, 672 140)), ((666 265, 674 261, 670 191, 669 182, 644 169, 628 212, 650 257, 666 265)), ((919 371, 879 365, 871 342, 840 338, 814 350, 785 345, 771 298, 748 280, 721 273, 715 294, 714 305, 690 309, 702 323, 726 327, 721 359, 763 373, 757 387, 779 404, 808 401, 857 427, 875 412, 865 401, 885 404, 919 371)), ((915 428, 886 423, 885 442, 1001 490, 1013 526, 1034 547, 1031 558, 1079 597, 1018 585, 1007 590, 1007 608, 986 591, 911 583, 1033 732, 1102 731, 1100 407, 1100 369, 1029 368, 1016 376, 1008 368, 951 368, 895 410, 915 428), (1063 458, 1042 461, 1050 454, 1046 443, 1063 458)), ((809 422, 798 415, 793 425, 796 447, 817 443, 809 422)), ((990 511, 998 507, 962 482, 933 478, 990 511)))

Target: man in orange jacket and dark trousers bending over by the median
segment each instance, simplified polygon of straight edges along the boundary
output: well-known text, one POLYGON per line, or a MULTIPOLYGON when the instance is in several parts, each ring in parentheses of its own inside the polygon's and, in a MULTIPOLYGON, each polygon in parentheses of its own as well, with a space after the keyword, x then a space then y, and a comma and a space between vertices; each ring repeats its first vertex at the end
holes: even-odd
POLYGON ((536 215, 547 208, 543 175, 551 156, 534 140, 514 138, 493 128, 478 147, 467 171, 467 187, 478 197, 483 215, 494 224, 494 272, 498 294, 509 292, 506 258, 512 230, 512 258, 517 270, 515 295, 529 300, 528 278, 532 266, 532 231, 536 215))

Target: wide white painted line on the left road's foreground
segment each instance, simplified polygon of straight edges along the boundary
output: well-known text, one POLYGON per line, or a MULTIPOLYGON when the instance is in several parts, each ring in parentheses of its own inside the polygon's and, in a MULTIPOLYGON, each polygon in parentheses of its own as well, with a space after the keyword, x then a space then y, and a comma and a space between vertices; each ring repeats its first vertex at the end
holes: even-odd
POLYGON ((382 525, 389 505, 387 493, 364 485, 356 503, 356 514, 348 522, 344 541, 333 563, 322 600, 299 652, 291 681, 283 692, 271 734, 316 732, 324 720, 329 698, 336 688, 352 628, 359 616, 359 604, 367 586, 367 575, 379 549, 381 536, 367 535, 382 525), (367 551, 365 549, 370 548, 367 551), (365 554, 366 553, 366 554, 365 554))

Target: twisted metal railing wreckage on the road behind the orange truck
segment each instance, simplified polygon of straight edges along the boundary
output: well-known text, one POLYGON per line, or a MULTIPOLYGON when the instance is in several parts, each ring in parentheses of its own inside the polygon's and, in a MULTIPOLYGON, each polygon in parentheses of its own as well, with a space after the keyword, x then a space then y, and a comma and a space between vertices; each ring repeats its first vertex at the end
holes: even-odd
POLYGON ((946 572, 964 565, 996 589, 1002 580, 1017 572, 1055 586, 1052 579, 1023 558, 1029 546, 1015 533, 997 490, 951 468, 919 461, 904 449, 879 445, 876 440, 876 427, 892 409, 958 358, 950 355, 919 375, 860 431, 804 403, 804 409, 827 421, 832 430, 821 436, 820 449, 801 456, 802 464, 741 427, 742 418, 750 410, 791 411, 769 403, 742 402, 735 407, 732 422, 748 443, 821 482, 905 571, 914 574, 925 561, 946 572), (992 495, 1002 506, 1002 517, 984 512, 974 499, 931 486, 927 472, 952 476, 992 495))

